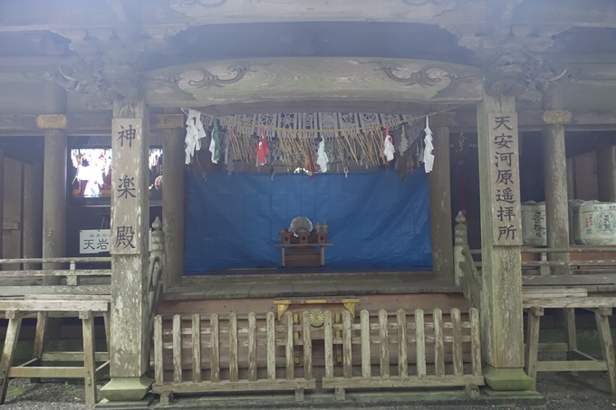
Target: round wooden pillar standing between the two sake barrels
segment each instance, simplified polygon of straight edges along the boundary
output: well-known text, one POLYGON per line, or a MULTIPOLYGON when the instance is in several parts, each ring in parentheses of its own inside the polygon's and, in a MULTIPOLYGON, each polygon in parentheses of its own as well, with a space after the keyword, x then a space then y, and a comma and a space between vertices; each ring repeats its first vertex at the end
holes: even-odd
MULTIPOLYGON (((544 110, 563 110, 563 96, 555 85, 544 91, 544 110)), ((567 197, 567 158, 564 152, 563 124, 544 128, 545 225, 548 248, 569 247, 569 201, 567 197)), ((550 261, 569 261, 569 253, 548 253, 550 261)), ((569 273, 569 266, 554 266, 553 274, 569 273)))

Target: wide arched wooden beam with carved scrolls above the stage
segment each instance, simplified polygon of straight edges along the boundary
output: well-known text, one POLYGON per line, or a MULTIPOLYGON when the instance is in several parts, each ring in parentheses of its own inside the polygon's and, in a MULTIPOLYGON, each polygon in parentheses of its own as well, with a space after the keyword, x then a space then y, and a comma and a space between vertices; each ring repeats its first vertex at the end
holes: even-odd
POLYGON ((409 59, 288 57, 247 63, 225 60, 166 67, 148 72, 146 77, 146 101, 152 107, 187 103, 207 107, 266 100, 473 103, 481 98, 481 76, 476 68, 409 59), (395 67, 390 74, 389 68, 381 69, 389 65, 395 67), (412 81, 413 73, 421 70, 440 80, 412 81), (177 80, 169 81, 170 73, 177 80), (209 73, 217 75, 217 80, 208 79, 209 73), (402 80, 394 80, 390 75, 402 80), (361 88, 355 85, 358 82, 361 88), (400 87, 400 82, 405 87, 400 87))

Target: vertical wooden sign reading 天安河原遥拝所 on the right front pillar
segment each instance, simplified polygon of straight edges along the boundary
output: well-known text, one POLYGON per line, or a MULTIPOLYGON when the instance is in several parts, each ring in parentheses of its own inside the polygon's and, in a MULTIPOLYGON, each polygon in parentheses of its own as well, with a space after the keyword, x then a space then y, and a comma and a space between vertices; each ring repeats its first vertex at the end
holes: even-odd
POLYGON ((517 114, 489 113, 490 188, 495 245, 522 244, 517 114))

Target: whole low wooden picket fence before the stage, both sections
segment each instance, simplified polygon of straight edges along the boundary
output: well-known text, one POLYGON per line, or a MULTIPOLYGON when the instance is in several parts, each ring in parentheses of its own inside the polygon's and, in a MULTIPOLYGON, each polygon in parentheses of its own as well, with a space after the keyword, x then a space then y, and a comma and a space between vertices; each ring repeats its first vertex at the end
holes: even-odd
POLYGON ((345 388, 476 389, 484 384, 476 309, 465 321, 457 309, 448 320, 433 310, 430 321, 423 310, 412 312, 412 320, 404 310, 394 315, 380 310, 372 317, 362 310, 359 323, 349 311, 343 312, 342 323, 334 323, 325 311, 320 327, 314 327, 320 323, 311 314, 304 311, 299 324, 288 311, 278 322, 273 312, 241 319, 231 313, 226 320, 217 314, 196 314, 189 321, 157 316, 152 391, 168 403, 173 393, 242 390, 294 390, 296 399, 303 400, 304 389, 316 388, 320 377, 322 387, 335 389, 338 399, 344 398, 345 388), (390 355, 391 345, 397 354, 390 355), (392 372, 396 362, 398 370, 392 372))

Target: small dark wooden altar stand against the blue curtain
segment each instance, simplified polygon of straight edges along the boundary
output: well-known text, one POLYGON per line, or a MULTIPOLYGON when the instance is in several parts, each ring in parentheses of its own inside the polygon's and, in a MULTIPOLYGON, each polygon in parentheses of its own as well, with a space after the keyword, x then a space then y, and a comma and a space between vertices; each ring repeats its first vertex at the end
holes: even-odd
POLYGON ((327 232, 313 229, 295 235, 283 229, 279 234, 281 243, 274 246, 281 248, 283 266, 325 265, 325 246, 332 246, 332 243, 327 243, 327 232))

